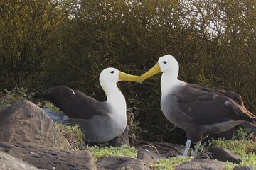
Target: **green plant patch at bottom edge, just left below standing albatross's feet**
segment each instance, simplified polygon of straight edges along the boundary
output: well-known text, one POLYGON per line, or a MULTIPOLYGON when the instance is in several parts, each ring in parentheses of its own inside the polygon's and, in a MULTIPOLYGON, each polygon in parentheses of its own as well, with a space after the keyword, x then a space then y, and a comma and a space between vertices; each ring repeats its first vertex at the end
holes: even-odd
POLYGON ((157 170, 174 170, 178 164, 182 162, 188 162, 193 157, 171 157, 168 159, 159 159, 157 164, 150 164, 151 169, 157 170))

